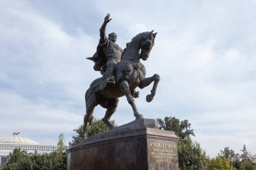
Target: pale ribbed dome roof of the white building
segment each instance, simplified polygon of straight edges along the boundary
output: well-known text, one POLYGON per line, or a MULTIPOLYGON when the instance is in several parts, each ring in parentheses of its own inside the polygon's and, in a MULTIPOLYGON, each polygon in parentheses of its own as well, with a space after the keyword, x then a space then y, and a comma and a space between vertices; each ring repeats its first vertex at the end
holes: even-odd
POLYGON ((7 136, 5 138, 0 138, 0 143, 4 144, 39 144, 38 142, 30 139, 30 138, 24 138, 22 136, 13 135, 13 136, 7 136))

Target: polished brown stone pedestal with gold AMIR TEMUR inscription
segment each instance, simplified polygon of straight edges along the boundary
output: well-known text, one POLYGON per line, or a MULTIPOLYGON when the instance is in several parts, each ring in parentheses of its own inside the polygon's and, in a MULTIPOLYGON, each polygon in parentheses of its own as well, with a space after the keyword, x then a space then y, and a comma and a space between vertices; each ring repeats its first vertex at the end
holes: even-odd
POLYGON ((178 170, 178 137, 141 119, 69 146, 68 170, 178 170))

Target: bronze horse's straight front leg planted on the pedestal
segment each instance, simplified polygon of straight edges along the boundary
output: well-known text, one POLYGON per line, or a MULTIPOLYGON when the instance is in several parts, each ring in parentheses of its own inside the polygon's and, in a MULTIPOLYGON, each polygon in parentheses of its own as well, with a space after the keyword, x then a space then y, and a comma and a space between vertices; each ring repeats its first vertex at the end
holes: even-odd
POLYGON ((139 114, 139 112, 137 111, 134 98, 131 95, 131 92, 130 92, 130 89, 129 89, 128 82, 127 81, 122 81, 120 83, 120 87, 121 87, 121 90, 123 91, 123 93, 125 94, 125 96, 127 97, 127 101, 131 105, 131 108, 133 108, 133 114, 134 114, 136 120, 143 118, 143 116, 141 114, 139 114))

